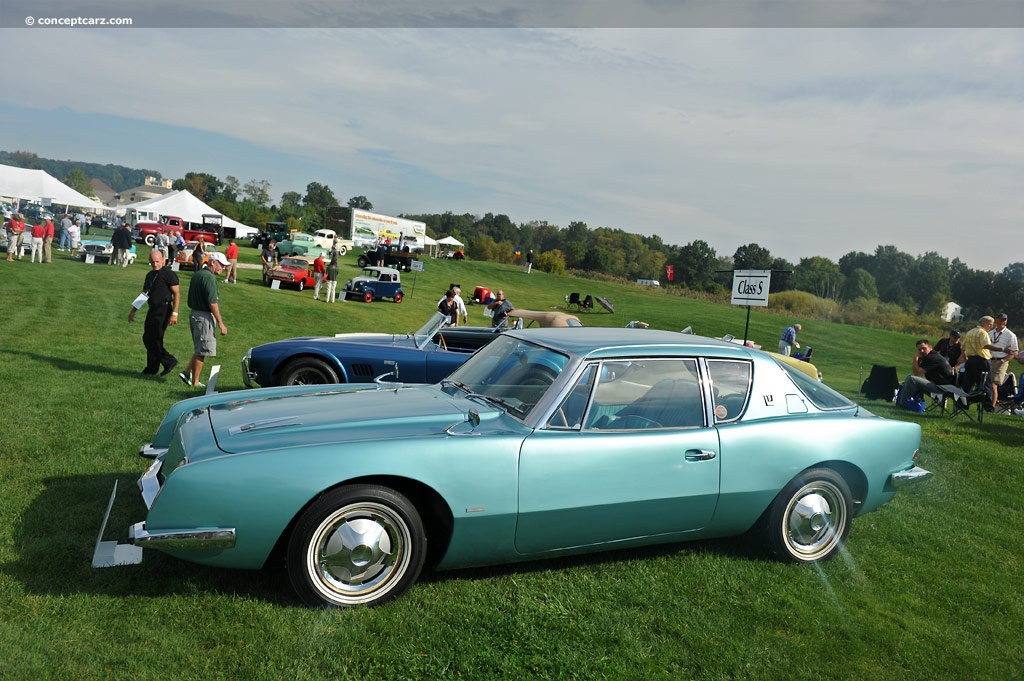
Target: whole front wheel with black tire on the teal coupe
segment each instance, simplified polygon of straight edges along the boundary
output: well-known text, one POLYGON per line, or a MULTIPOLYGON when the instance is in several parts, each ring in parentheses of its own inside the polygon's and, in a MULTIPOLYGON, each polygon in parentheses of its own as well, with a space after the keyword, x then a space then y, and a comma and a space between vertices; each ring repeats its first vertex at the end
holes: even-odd
POLYGON ((349 485, 321 497, 288 542, 288 577, 307 605, 377 605, 406 593, 426 558, 423 520, 406 497, 349 485))

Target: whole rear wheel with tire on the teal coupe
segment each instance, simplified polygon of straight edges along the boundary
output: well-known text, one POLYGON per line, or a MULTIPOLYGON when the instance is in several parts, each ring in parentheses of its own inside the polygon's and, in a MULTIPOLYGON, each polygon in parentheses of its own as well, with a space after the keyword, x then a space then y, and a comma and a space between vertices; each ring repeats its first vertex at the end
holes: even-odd
POLYGON ((798 475, 768 509, 768 550, 785 562, 831 558, 853 520, 850 487, 836 471, 812 468, 798 475))

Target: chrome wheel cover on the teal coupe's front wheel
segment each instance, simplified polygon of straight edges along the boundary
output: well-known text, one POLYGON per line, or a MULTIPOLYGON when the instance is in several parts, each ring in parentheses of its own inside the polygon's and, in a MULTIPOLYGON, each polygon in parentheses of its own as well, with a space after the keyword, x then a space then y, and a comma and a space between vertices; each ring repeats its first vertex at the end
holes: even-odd
POLYGON ((409 569, 413 538, 383 504, 360 502, 331 513, 313 533, 306 571, 314 589, 344 605, 375 601, 409 569))

